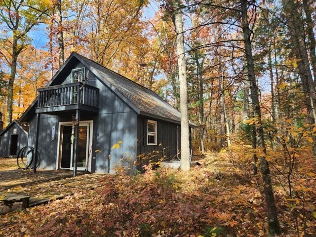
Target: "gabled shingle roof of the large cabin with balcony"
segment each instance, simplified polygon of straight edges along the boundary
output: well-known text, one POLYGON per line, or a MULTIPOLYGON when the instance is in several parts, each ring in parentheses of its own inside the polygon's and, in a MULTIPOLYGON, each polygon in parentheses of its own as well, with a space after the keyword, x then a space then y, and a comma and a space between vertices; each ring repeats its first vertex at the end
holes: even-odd
MULTIPOLYGON (((169 120, 179 123, 181 114, 174 109, 166 101, 160 98, 154 91, 130 80, 118 73, 103 67, 102 65, 73 52, 60 70, 48 82, 49 86, 58 74, 63 70, 65 65, 73 58, 77 58, 86 68, 88 68, 94 75, 96 75, 105 85, 118 95, 127 105, 129 105, 137 114, 145 115, 153 118, 169 120)), ((36 103, 34 101, 31 106, 36 103)), ((25 116, 27 111, 22 115, 21 119, 25 116)), ((190 125, 195 126, 194 123, 190 125)))

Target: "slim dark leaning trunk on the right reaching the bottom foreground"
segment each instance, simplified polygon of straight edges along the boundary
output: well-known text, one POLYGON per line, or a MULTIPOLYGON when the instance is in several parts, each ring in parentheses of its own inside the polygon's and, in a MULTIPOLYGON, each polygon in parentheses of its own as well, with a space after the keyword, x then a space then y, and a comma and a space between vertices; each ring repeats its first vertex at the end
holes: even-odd
POLYGON ((259 158, 260 158, 260 170, 261 170, 262 178, 264 182, 265 200, 266 200, 266 205, 267 205, 269 235, 270 236, 280 235, 282 231, 277 219, 276 203, 275 203, 273 188, 271 184, 269 163, 267 162, 265 158, 267 151, 266 151, 265 137, 264 137, 262 119, 261 119, 258 86, 256 83, 256 77, 255 77, 255 71, 254 71, 254 62, 253 62, 251 40, 250 40, 251 33, 250 33, 248 17, 247 17, 248 2, 247 0, 240 0, 240 3, 241 3, 240 10, 241 10, 241 19, 242 19, 242 32, 243 32, 244 47, 245 47, 245 53, 246 53, 248 79, 250 81, 251 102, 252 102, 253 114, 255 118, 257 118, 257 123, 256 123, 257 146, 258 148, 263 149, 263 155, 261 155, 259 158))

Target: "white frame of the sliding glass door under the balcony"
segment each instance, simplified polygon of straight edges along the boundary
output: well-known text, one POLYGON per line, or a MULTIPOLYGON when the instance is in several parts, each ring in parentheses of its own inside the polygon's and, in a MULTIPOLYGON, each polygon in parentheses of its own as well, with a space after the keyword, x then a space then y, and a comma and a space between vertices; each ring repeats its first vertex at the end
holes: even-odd
MULTIPOLYGON (((90 150, 92 149, 92 139, 93 139, 93 120, 84 120, 84 121, 80 121, 79 122, 79 126, 81 124, 90 124, 90 130, 89 132, 89 144, 88 144, 88 171, 91 172, 91 161, 92 161, 92 152, 90 153, 90 150)), ((57 140, 57 156, 56 156, 56 169, 59 169, 60 167, 60 144, 61 143, 61 126, 62 125, 73 125, 72 121, 68 121, 68 122, 59 122, 58 123, 58 140, 57 140)), ((72 161, 73 161, 73 145, 71 146, 71 158, 70 158, 70 169, 69 170, 73 170, 74 168, 72 167, 72 161)), ((62 148, 61 148, 62 149, 62 148)), ((84 170, 84 169, 83 169, 84 170)))

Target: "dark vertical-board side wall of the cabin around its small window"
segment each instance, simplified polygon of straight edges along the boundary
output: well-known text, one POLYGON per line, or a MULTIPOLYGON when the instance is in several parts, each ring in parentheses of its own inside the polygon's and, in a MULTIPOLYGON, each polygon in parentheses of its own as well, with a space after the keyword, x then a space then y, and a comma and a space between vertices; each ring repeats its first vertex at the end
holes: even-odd
MULTIPOLYGON (((178 150, 180 151, 180 124, 158 120, 155 118, 137 117, 137 170, 144 171, 143 165, 159 159, 166 160, 177 156, 177 126, 178 150), (147 120, 157 121, 157 145, 147 145, 147 120), (159 146, 159 144, 161 144, 159 146)), ((180 158, 180 154, 179 154, 180 158)))

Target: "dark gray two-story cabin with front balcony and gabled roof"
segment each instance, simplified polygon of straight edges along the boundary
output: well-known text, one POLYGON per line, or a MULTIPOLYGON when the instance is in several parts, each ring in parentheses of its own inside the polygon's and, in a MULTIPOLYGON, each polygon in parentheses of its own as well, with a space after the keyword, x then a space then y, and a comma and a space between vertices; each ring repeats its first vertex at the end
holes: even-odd
POLYGON ((78 53, 38 91, 21 121, 30 123, 28 146, 38 148, 40 168, 135 173, 153 152, 154 160, 180 157, 180 113, 78 53))

